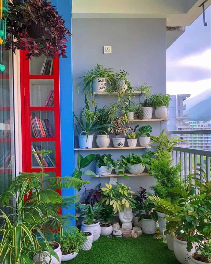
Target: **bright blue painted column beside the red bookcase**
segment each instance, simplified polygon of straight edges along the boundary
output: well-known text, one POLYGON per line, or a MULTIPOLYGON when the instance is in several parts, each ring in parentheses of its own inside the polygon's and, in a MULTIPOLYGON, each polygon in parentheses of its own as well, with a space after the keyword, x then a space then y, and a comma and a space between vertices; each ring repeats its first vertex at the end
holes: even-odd
MULTIPOLYGON (((65 20, 65 26, 71 32, 72 0, 51 0, 59 14, 65 20)), ((72 69, 72 41, 66 44, 66 56, 59 59, 60 77, 60 122, 61 122, 61 176, 71 176, 74 171, 74 127, 73 127, 73 69, 72 69)), ((73 188, 63 189, 62 195, 75 195, 73 188)), ((62 209, 63 214, 75 215, 75 208, 62 209)), ((75 226, 75 220, 71 221, 75 226)))

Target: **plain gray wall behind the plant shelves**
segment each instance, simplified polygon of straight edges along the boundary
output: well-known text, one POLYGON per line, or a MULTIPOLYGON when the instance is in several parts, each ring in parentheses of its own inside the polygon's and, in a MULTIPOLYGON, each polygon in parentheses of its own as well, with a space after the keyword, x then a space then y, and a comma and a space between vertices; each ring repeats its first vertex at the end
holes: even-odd
MULTIPOLYGON (((80 85, 80 79, 86 70, 96 63, 104 67, 113 68, 119 72, 124 69, 129 72, 128 79, 132 86, 138 86, 143 82, 150 84, 153 93, 166 93, 166 20, 165 19, 107 19, 107 18, 73 18, 73 84, 74 88, 80 85), (103 46, 112 46, 112 54, 103 54, 103 46)), ((82 88, 82 86, 81 86, 82 88)), ((62 89, 62 87, 61 87, 62 89)), ((102 96, 97 98, 97 107, 103 107, 109 101, 115 101, 117 97, 102 96)), ((138 97, 135 99, 138 101, 138 97)), ((143 98, 140 98, 143 100, 143 98)), ((79 114, 84 107, 84 95, 74 91, 74 110, 79 114)), ((149 123, 141 122, 139 125, 149 123)), ((136 123, 131 126, 134 127, 136 123)), ((161 123, 151 122, 152 133, 159 134, 161 123)), ((162 127, 166 126, 162 122, 162 127)), ((78 148, 77 132, 75 131, 75 148, 78 148)), ((96 145, 96 137, 93 147, 96 145)), ((112 146, 112 142, 110 143, 112 146)), ((118 159, 120 155, 128 155, 130 150, 97 150, 81 151, 83 156, 90 153, 112 154, 112 158, 118 159)), ((144 154, 145 150, 134 150, 135 154, 144 154)), ((78 151, 75 151, 77 161, 78 151)), ((93 163, 89 169, 95 171, 93 163)), ((109 183, 109 178, 83 177, 89 180, 88 188, 94 188, 99 182, 102 187, 109 183)), ((138 190, 139 186, 149 187, 154 184, 154 178, 147 176, 133 176, 129 180, 118 177, 119 182, 131 186, 132 190, 138 190)), ((80 194, 82 199, 84 190, 80 194)))

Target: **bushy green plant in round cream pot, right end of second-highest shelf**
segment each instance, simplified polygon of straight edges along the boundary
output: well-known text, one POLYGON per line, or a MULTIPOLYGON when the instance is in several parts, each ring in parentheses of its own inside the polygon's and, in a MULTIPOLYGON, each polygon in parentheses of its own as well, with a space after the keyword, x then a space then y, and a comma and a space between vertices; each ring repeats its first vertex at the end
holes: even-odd
POLYGON ((162 95, 161 93, 152 95, 152 107, 155 108, 155 116, 159 119, 165 119, 168 114, 167 107, 171 100, 170 95, 162 95))

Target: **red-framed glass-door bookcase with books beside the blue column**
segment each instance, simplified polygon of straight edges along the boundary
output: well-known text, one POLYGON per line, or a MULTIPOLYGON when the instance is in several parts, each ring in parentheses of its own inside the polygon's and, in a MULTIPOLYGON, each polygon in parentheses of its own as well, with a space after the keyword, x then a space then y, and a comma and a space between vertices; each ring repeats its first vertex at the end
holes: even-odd
POLYGON ((23 171, 39 172, 40 150, 51 150, 44 171, 61 176, 59 59, 26 60, 26 53, 20 52, 23 171))

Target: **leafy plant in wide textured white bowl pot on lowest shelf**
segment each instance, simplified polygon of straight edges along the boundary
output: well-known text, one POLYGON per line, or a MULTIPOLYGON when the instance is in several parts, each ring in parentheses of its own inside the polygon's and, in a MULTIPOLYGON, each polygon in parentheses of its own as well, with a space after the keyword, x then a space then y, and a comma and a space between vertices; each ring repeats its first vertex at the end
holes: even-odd
POLYGON ((126 164, 126 169, 132 174, 141 174, 145 167, 149 167, 147 162, 148 158, 142 158, 140 155, 134 155, 130 153, 128 157, 120 156, 123 162, 126 164))

